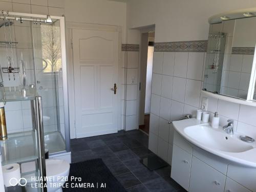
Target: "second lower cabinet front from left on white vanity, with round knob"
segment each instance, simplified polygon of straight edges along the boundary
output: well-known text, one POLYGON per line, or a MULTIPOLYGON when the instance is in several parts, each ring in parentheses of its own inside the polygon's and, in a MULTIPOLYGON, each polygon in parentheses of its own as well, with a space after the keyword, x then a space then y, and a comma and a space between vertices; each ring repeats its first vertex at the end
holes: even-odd
POLYGON ((226 176, 200 161, 192 158, 189 192, 223 192, 226 176))

